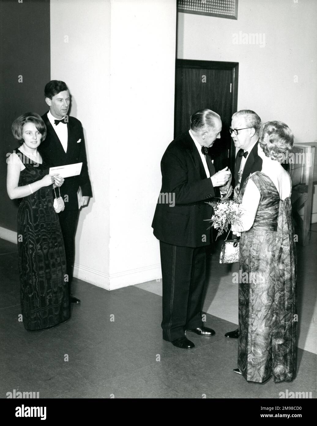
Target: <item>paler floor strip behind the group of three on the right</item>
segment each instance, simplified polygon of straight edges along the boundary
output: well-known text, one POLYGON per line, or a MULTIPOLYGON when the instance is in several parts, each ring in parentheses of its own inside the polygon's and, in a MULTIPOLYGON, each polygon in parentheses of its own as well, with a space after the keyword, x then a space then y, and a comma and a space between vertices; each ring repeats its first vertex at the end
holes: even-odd
MULTIPOLYGON (((300 235, 299 235, 300 238, 300 235)), ((219 264, 222 241, 208 256, 208 282, 203 311, 214 317, 238 324, 238 283, 234 279, 239 263, 219 264), (235 274, 235 275, 234 275, 235 274)), ((317 354, 317 223, 311 225, 311 238, 306 246, 297 245, 297 346, 317 354)), ((162 296, 161 280, 144 282, 138 288, 162 296)), ((229 331, 229 330, 228 330, 229 331)))

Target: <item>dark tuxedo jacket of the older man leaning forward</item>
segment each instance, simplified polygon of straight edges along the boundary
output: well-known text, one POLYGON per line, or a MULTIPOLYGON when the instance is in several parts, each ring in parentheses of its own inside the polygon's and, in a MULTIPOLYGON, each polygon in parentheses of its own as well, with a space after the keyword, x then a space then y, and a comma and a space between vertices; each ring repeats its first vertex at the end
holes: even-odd
MULTIPOLYGON (((209 155, 206 161, 210 176, 215 169, 209 155)), ((172 141, 161 160, 162 188, 152 222, 157 239, 183 247, 202 247, 211 243, 210 230, 213 208, 206 204, 220 197, 207 178, 200 154, 189 132, 172 141), (163 196, 162 196, 163 194, 163 196), (167 201, 164 194, 171 194, 167 201), (174 197, 174 198, 173 198, 174 197)), ((215 201, 215 200, 214 200, 215 201)))

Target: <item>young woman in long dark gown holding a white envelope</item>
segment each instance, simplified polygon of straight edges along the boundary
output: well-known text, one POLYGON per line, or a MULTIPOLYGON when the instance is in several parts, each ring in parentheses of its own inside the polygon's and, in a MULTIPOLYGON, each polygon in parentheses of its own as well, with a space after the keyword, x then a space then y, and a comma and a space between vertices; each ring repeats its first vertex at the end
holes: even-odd
POLYGON ((52 186, 64 179, 49 175, 37 147, 45 139, 46 126, 29 112, 12 124, 21 146, 7 159, 7 192, 22 199, 17 213, 20 299, 27 330, 49 328, 70 317, 65 249, 55 213, 52 186))

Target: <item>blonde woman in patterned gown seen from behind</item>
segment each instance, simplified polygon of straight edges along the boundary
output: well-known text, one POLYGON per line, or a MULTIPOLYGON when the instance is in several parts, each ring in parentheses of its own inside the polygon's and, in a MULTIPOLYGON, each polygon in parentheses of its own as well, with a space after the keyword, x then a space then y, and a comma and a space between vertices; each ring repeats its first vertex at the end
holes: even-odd
POLYGON ((296 248, 291 178, 280 164, 294 136, 281 121, 264 125, 258 146, 261 172, 245 181, 239 201, 240 238, 238 368, 252 382, 292 381, 296 373, 296 248), (243 273, 247 274, 243 274, 243 273), (241 274, 240 274, 241 275, 241 274), (245 282, 248 281, 248 282, 245 282))

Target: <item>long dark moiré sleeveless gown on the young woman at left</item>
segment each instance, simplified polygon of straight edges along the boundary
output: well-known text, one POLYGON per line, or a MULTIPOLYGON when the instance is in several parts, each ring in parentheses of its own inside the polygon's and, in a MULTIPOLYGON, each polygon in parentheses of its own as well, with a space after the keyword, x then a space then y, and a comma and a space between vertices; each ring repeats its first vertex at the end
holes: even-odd
MULTIPOLYGON (((18 148, 15 152, 21 155, 18 148)), ((18 186, 31 184, 49 173, 46 164, 36 167, 25 158, 26 168, 20 172, 18 186)), ((53 202, 49 185, 24 197, 18 208, 20 298, 27 330, 48 328, 70 317, 63 235, 53 202)))

